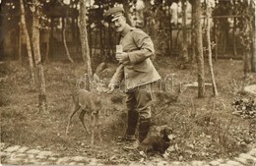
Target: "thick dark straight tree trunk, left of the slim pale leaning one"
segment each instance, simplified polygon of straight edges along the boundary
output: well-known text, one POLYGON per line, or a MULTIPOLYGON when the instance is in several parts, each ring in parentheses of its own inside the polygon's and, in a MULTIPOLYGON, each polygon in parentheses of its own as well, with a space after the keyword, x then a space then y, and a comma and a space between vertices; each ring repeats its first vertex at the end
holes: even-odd
POLYGON ((195 35, 196 35, 196 59, 198 65, 198 97, 205 96, 205 72, 204 72, 204 56, 202 41, 202 24, 201 24, 201 2, 194 0, 195 8, 195 35))

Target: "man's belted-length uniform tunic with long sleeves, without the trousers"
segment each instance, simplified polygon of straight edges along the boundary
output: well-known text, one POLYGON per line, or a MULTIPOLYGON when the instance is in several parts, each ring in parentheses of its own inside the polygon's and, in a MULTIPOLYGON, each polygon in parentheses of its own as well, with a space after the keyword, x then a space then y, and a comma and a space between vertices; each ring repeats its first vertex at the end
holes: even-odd
POLYGON ((131 28, 121 37, 123 52, 128 53, 129 61, 119 64, 110 83, 125 81, 125 90, 160 80, 160 75, 150 57, 155 49, 150 36, 139 28, 131 28))

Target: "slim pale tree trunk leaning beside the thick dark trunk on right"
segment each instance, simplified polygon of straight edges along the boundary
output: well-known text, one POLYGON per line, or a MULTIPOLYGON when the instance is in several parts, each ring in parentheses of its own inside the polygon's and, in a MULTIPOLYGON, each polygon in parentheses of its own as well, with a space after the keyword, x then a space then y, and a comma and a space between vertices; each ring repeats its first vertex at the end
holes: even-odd
POLYGON ((218 90, 216 86, 216 81, 215 81, 215 74, 214 74, 214 68, 213 68, 213 61, 212 61, 212 46, 211 46, 211 22, 210 22, 210 16, 212 14, 211 11, 211 6, 210 6, 210 1, 207 0, 207 7, 206 7, 206 12, 207 12, 207 18, 206 18, 206 23, 207 23, 207 31, 206 31, 206 39, 207 39, 207 50, 208 50, 208 63, 209 63, 209 68, 210 68, 210 74, 211 74, 211 79, 212 79, 212 84, 213 84, 213 92, 214 96, 218 95, 218 90))

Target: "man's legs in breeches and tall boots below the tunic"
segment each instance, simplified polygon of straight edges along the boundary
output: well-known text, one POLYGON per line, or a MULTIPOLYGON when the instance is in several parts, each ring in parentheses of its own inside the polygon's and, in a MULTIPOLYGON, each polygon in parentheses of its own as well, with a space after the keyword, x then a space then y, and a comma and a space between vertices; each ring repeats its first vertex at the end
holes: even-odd
POLYGON ((147 137, 151 123, 151 84, 145 84, 126 92, 128 108, 126 136, 135 136, 139 121, 139 141, 147 137))

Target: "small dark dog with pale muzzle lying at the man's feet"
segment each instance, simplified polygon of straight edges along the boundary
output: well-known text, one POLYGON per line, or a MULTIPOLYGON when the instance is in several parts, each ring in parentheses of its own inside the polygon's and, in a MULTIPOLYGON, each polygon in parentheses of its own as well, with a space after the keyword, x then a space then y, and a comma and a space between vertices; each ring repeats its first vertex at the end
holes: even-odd
MULTIPOLYGON (((173 131, 170 127, 164 127, 160 130, 160 134, 156 136, 148 136, 139 144, 140 153, 144 152, 147 154, 164 151, 169 147, 170 140, 174 138, 173 131)), ((145 155, 145 154, 144 154, 145 155)))

